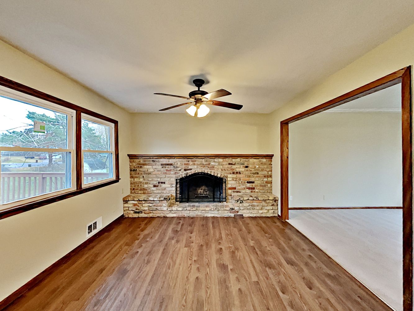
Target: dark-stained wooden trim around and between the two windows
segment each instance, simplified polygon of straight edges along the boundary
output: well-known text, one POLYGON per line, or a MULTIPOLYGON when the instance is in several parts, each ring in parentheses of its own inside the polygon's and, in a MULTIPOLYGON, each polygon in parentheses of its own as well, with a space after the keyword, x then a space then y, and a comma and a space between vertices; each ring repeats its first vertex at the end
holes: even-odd
POLYGON ((46 94, 44 92, 41 92, 39 90, 36 90, 32 87, 23 85, 21 83, 18 83, 16 81, 7 79, 5 77, 0 76, 0 85, 3 87, 10 88, 11 90, 22 92, 26 95, 30 95, 33 97, 37 97, 41 100, 46 100, 48 102, 52 102, 54 104, 57 104, 59 106, 72 109, 75 111, 75 171, 76 171, 76 184, 75 184, 75 190, 68 191, 64 194, 58 194, 53 195, 51 193, 51 197, 42 197, 41 199, 36 199, 34 197, 34 200, 29 203, 16 205, 13 207, 8 207, 5 209, 0 210, 0 219, 4 219, 13 215, 20 214, 24 211, 29 211, 31 209, 35 209, 38 207, 42 207, 47 204, 51 204, 54 202, 61 201, 63 199, 67 199, 70 197, 74 197, 79 194, 83 194, 89 191, 93 191, 102 187, 106 187, 108 185, 113 185, 117 182, 119 182, 119 146, 118 146, 118 121, 109 117, 106 117, 102 114, 99 114, 97 112, 91 111, 89 109, 86 109, 84 107, 80 107, 78 105, 72 104, 70 102, 67 102, 65 100, 61 100, 58 97, 54 97, 52 95, 46 94), (114 124, 114 154, 115 154, 115 175, 110 180, 105 180, 104 182, 101 182, 99 184, 95 185, 89 185, 82 187, 82 178, 83 178, 83 172, 82 172, 82 136, 81 136, 81 129, 82 129, 82 114, 87 114, 91 117, 94 117, 96 119, 101 119, 103 121, 109 122, 114 124))

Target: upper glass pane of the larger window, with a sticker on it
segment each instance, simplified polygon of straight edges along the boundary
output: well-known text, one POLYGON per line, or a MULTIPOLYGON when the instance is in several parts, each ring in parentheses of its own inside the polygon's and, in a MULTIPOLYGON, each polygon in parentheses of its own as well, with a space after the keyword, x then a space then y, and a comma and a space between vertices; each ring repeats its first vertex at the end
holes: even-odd
POLYGON ((0 96, 0 146, 67 149, 67 115, 0 96))

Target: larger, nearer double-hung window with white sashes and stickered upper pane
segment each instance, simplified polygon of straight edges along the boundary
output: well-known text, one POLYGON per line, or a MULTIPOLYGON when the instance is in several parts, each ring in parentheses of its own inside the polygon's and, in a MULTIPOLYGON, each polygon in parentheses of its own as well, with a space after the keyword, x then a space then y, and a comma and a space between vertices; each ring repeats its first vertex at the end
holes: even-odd
POLYGON ((0 204, 75 190, 75 110, 0 88, 0 204))

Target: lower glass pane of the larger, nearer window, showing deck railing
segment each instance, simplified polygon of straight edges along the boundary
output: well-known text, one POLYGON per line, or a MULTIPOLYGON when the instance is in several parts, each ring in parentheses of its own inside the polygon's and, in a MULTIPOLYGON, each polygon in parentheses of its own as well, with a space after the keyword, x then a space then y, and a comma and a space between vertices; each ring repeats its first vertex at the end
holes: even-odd
POLYGON ((0 203, 71 187, 70 152, 1 151, 0 203))

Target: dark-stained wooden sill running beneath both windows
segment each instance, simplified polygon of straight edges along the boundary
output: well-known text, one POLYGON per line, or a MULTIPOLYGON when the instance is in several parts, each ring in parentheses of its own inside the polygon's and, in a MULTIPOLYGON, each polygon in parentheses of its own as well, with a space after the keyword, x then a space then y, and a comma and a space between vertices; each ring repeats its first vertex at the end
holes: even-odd
POLYGON ((75 196, 77 196, 79 194, 82 194, 82 193, 86 193, 86 192, 96 190, 96 189, 99 189, 99 188, 102 188, 102 187, 113 185, 113 184, 116 184, 119 181, 120 181, 120 179, 110 180, 110 181, 107 181, 107 182, 102 182, 102 183, 97 184, 97 185, 91 185, 89 187, 85 187, 85 188, 82 188, 82 189, 77 189, 77 190, 73 190, 71 192, 67 192, 67 193, 64 193, 64 194, 59 194, 59 195, 56 195, 54 197, 48 197, 46 199, 39 199, 39 200, 35 200, 33 202, 30 202, 30 203, 26 203, 26 204, 14 206, 14 207, 9 207, 7 209, 2 209, 2 210, 0 210, 0 219, 7 218, 7 217, 10 217, 10 216, 13 216, 13 215, 17 215, 17 214, 23 213, 25 211, 30 211, 31 209, 36 209, 38 207, 42 207, 42 206, 47 205, 47 204, 59 202, 59 201, 62 201, 64 199, 67 199, 67 198, 70 198, 70 197, 75 197, 75 196))

